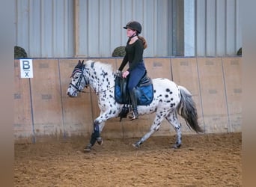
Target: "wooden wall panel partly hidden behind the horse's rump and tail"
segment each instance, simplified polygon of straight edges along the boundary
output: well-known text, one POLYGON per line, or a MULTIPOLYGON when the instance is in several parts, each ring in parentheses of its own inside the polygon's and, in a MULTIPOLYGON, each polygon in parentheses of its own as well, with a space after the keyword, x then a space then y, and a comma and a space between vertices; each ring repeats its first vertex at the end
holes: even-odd
MULTIPOLYGON (((198 122, 202 129, 204 129, 204 121, 202 118, 201 108, 201 94, 198 78, 198 67, 196 58, 172 58, 171 69, 174 82, 177 85, 182 85, 192 93, 192 98, 198 111, 198 122)), ((193 131, 186 126, 185 120, 179 116, 182 123, 183 134, 192 133, 193 131)))

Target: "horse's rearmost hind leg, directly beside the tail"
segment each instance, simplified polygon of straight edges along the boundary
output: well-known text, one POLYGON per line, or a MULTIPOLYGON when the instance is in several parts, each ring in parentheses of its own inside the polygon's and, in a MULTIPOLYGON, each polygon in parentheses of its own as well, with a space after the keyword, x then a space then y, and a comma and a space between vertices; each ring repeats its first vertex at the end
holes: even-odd
POLYGON ((166 117, 166 120, 168 120, 168 122, 174 126, 174 129, 177 133, 177 137, 176 137, 176 142, 173 145, 174 148, 179 148, 181 146, 181 124, 179 122, 179 120, 177 119, 177 113, 176 112, 171 112, 169 113, 166 117))

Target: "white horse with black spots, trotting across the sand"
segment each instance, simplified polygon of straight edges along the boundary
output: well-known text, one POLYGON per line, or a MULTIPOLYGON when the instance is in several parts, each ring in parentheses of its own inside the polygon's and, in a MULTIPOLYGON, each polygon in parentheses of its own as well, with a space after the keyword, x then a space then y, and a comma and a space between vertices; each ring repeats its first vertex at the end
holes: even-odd
MULTIPOLYGON (((94 130, 91 134, 90 143, 85 147, 85 151, 90 151, 91 147, 97 142, 103 144, 103 138, 100 137, 105 126, 106 120, 112 117, 118 117, 123 105, 115 101, 115 76, 112 66, 99 61, 80 61, 76 65, 71 75, 71 82, 67 88, 68 96, 77 96, 79 92, 89 85, 98 96, 98 105, 100 108, 100 116, 94 120, 94 130)), ((150 105, 138 105, 138 114, 150 114, 156 112, 156 117, 153 124, 139 141, 132 144, 134 147, 139 147, 153 132, 156 132, 162 120, 166 119, 174 126, 177 132, 177 139, 174 148, 179 148, 181 145, 181 124, 177 119, 177 114, 180 114, 186 120, 189 128, 195 132, 203 132, 198 126, 198 114, 195 107, 195 102, 192 99, 191 93, 180 86, 171 82, 169 79, 157 78, 152 79, 153 82, 153 101, 150 105)), ((132 123, 132 122, 131 122, 132 123)))

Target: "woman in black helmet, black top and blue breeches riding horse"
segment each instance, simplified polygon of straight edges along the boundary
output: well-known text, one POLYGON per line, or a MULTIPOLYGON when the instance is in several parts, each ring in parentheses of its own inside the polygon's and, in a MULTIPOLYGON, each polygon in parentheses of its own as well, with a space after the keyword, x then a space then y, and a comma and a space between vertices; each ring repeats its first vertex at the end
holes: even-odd
POLYGON ((137 96, 135 94, 135 87, 138 85, 138 82, 147 72, 143 60, 144 49, 147 48, 147 41, 144 37, 138 36, 141 33, 141 24, 136 21, 130 21, 124 26, 127 29, 127 46, 125 47, 125 56, 124 59, 118 68, 119 71, 122 71, 129 62, 129 68, 122 74, 123 78, 126 78, 128 75, 128 91, 132 100, 132 115, 129 116, 131 120, 138 118, 138 109, 137 109, 137 96))

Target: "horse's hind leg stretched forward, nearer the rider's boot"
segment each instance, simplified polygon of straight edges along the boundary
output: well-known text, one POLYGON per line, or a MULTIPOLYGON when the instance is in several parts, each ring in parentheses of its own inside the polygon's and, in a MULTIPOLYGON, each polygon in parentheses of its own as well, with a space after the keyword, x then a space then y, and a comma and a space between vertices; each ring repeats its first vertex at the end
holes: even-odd
POLYGON ((147 132, 139 141, 132 144, 132 146, 138 148, 140 144, 142 144, 144 141, 147 140, 147 138, 150 138, 150 135, 152 135, 154 132, 156 132, 159 129, 162 123, 162 120, 164 120, 163 114, 156 114, 155 120, 153 121, 152 126, 150 126, 150 131, 147 132))

